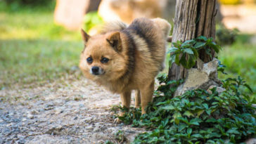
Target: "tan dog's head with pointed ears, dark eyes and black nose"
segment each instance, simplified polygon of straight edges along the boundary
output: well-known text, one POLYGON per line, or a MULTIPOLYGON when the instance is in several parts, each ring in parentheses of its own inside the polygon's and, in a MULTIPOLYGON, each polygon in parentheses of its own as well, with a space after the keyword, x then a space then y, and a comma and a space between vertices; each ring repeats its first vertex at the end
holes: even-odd
POLYGON ((126 69, 127 56, 120 32, 109 32, 90 37, 82 30, 84 51, 79 67, 89 79, 118 78, 126 69))

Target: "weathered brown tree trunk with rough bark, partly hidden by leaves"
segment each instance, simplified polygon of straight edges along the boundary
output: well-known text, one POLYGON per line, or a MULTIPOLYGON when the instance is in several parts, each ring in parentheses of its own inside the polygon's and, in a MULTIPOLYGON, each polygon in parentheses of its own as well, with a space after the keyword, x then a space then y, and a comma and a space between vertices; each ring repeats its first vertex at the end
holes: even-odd
MULTIPOLYGON (((186 41, 201 35, 215 39, 216 0, 177 0, 172 42, 186 41)), ((181 55, 180 55, 181 56, 181 55)), ((212 58, 214 53, 212 53, 212 58)), ((204 50, 199 51, 204 63, 212 58, 204 50)), ((169 67, 169 80, 184 79, 186 69, 172 63, 169 67)))

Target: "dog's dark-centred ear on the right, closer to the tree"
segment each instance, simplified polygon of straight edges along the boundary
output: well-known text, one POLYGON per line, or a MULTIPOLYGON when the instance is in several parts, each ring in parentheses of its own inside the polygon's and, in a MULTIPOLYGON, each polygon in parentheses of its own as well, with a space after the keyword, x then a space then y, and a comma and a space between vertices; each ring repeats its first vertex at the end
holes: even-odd
POLYGON ((113 32, 108 36, 106 40, 108 41, 110 46, 114 48, 115 51, 122 51, 122 41, 120 37, 120 32, 113 32))

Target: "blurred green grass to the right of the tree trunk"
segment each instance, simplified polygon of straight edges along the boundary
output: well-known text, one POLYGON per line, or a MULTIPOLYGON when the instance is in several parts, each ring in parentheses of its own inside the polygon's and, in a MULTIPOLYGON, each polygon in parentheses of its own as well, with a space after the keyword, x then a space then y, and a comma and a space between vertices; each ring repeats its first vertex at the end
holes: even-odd
MULTIPOLYGON (((223 46, 219 60, 226 65, 225 74, 219 74, 221 79, 238 77, 240 75, 252 87, 252 99, 256 103, 256 45, 250 43, 250 35, 240 34, 231 46, 223 46)), ((246 90, 245 90, 246 91, 246 90)))

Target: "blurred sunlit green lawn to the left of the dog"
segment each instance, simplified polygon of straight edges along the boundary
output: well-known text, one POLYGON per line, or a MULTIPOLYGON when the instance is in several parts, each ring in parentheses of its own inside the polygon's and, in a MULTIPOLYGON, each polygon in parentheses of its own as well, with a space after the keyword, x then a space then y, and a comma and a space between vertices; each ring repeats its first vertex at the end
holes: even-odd
POLYGON ((82 48, 79 32, 55 25, 52 11, 0 11, 0 89, 76 72, 82 48))

